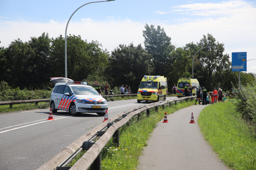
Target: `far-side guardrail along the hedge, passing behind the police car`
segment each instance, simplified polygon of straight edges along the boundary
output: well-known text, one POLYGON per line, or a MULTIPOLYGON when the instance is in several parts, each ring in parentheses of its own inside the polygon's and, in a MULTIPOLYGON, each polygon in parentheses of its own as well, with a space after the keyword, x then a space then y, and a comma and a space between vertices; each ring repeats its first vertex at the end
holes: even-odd
MULTIPOLYGON (((136 96, 137 94, 120 94, 120 95, 104 95, 102 97, 124 97, 124 96, 136 96)), ((35 103, 38 105, 38 102, 49 102, 50 99, 31 99, 31 100, 12 100, 12 101, 4 101, 0 102, 0 105, 10 105, 10 108, 12 108, 13 104, 21 104, 21 103, 35 103)))

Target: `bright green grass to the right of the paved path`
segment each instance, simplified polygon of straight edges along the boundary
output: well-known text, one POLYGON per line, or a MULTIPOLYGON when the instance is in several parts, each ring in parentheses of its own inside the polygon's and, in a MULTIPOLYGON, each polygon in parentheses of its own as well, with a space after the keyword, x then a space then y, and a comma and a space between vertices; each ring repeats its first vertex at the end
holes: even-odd
POLYGON ((236 170, 256 169, 256 137, 231 101, 204 108, 198 124, 226 165, 236 170))

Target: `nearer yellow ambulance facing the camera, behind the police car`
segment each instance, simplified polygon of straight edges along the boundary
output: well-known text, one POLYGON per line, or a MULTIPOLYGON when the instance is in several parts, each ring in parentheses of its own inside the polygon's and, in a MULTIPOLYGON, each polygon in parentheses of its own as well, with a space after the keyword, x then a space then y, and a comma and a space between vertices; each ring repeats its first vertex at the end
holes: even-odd
POLYGON ((167 92, 166 77, 144 75, 137 93, 137 102, 165 100, 167 92))

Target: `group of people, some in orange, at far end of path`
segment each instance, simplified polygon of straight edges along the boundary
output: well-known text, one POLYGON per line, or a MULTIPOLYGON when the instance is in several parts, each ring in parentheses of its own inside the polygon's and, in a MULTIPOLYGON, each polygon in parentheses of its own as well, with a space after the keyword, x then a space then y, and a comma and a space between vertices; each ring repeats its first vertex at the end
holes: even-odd
MULTIPOLYGON (((221 88, 218 89, 218 92, 217 92, 216 88, 213 89, 213 92, 209 92, 209 95, 211 96, 211 102, 209 100, 209 97, 207 96, 207 90, 204 87, 202 87, 202 89, 200 89, 200 88, 197 89, 196 95, 197 95, 196 102, 198 101, 199 105, 201 104, 201 101, 202 101, 202 105, 215 103, 215 102, 217 102, 217 99, 219 102, 221 102, 222 97, 223 97, 221 88)), ((196 105, 196 103, 195 103, 195 105, 196 105)))

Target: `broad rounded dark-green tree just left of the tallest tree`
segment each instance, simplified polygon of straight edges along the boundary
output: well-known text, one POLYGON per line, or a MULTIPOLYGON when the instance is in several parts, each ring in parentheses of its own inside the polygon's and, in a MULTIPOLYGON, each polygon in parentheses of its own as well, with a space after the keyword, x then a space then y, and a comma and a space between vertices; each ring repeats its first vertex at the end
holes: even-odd
POLYGON ((128 46, 120 44, 111 52, 108 60, 107 72, 112 87, 127 84, 134 93, 137 92, 142 77, 151 74, 151 55, 142 48, 141 44, 138 46, 134 46, 133 43, 128 46))

